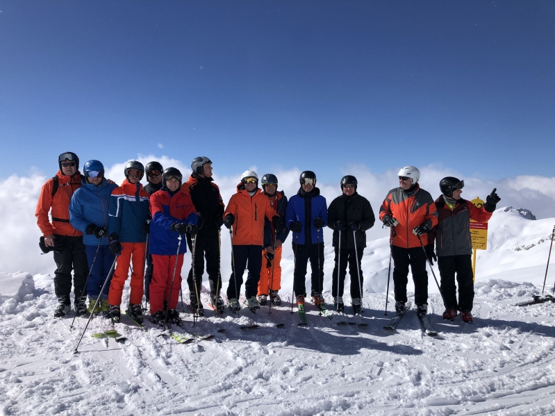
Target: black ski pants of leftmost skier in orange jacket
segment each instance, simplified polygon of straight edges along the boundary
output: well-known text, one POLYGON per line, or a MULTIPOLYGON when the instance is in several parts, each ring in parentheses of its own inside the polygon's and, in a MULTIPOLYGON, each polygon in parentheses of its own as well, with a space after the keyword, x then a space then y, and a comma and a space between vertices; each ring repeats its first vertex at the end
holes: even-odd
POLYGON ((54 251, 56 272, 54 272, 54 292, 56 296, 69 296, 72 292, 72 270, 73 270, 73 292, 78 298, 83 293, 87 296, 85 281, 89 274, 89 264, 85 254, 83 237, 72 237, 70 235, 56 235, 56 240, 62 240, 63 251, 54 251))

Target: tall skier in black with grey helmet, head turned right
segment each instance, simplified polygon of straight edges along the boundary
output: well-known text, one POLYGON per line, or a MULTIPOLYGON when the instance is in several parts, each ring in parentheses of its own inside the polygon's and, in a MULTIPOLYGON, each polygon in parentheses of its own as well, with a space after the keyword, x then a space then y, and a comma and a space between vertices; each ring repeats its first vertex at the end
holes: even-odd
MULTIPOLYGON (((224 201, 219 194, 218 186, 212 178, 212 161, 206 156, 194 158, 191 163, 192 174, 189 181, 183 183, 181 190, 190 194, 194 208, 199 217, 199 231, 195 237, 194 247, 194 279, 193 269, 189 270, 187 283, 190 290, 190 306, 194 311, 203 315, 204 310, 200 301, 202 274, 204 273, 204 257, 206 257, 206 272, 210 283, 211 306, 219 313, 224 312, 224 301, 219 297, 222 289, 222 277, 219 274, 219 228, 224 224, 224 201), (194 287, 194 281, 197 288, 194 287), (197 299, 197 296, 199 299, 197 299), (198 303, 197 303, 198 301, 198 303)), ((192 253, 192 240, 187 235, 187 242, 192 253)))

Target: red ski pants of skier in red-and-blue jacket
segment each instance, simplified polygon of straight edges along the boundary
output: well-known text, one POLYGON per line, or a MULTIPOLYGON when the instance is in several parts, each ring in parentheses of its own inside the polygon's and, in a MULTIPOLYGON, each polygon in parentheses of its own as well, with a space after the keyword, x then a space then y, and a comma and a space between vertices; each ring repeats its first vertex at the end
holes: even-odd
POLYGON ((158 310, 164 310, 164 301, 169 299, 169 288, 172 286, 172 276, 174 275, 174 286, 172 288, 172 299, 169 299, 169 309, 177 308, 179 299, 179 289, 181 288, 181 266, 183 265, 183 254, 179 256, 152 255, 152 281, 150 282, 150 313, 151 315, 158 310), (177 261, 177 267, 176 267, 177 261))

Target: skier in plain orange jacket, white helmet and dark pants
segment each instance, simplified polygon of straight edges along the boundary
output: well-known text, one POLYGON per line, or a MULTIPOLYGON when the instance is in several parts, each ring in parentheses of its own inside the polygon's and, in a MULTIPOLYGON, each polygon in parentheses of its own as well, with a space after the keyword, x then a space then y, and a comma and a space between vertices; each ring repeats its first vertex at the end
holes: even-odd
POLYGON ((282 222, 270 205, 270 199, 258 188, 258 175, 247 170, 241 175, 241 183, 224 212, 224 225, 231 231, 232 272, 227 288, 229 308, 233 313, 240 310, 239 294, 243 283, 245 268, 249 275, 245 282, 245 304, 254 311, 260 306, 256 299, 260 267, 262 267, 262 250, 264 244, 265 218, 272 221, 274 229, 280 229, 282 222))

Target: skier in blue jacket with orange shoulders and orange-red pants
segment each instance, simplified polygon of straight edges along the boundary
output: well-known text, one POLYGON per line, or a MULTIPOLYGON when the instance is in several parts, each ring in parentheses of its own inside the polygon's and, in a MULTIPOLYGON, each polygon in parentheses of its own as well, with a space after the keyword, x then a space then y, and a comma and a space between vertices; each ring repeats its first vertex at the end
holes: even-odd
POLYGON ((125 181, 115 188, 110 196, 110 235, 108 248, 117 257, 114 276, 110 282, 108 315, 113 322, 119 322, 122 294, 125 281, 129 274, 129 265, 133 261, 131 274, 131 292, 126 314, 142 323, 142 294, 144 275, 144 251, 147 249, 147 233, 149 231, 150 195, 142 188, 140 180, 144 175, 144 166, 137 160, 125 165, 125 181))

